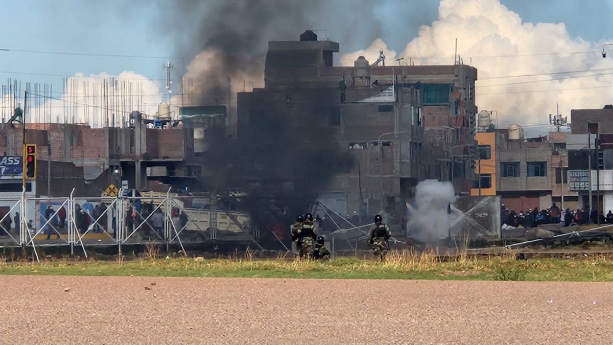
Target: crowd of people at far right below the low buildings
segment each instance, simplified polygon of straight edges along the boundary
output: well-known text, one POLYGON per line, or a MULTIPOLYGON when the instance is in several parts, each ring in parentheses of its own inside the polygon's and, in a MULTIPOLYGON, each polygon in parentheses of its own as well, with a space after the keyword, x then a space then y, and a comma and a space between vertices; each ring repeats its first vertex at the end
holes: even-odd
POLYGON ((507 225, 516 228, 533 228, 543 224, 559 223, 562 223, 564 227, 568 227, 573 223, 578 225, 613 224, 613 212, 609 210, 606 215, 602 212, 599 214, 595 208, 590 209, 589 207, 573 211, 568 208, 560 209, 560 207, 553 203, 549 209, 541 209, 539 211, 538 207, 535 207, 528 209, 528 211, 522 210, 518 214, 515 210, 509 210, 502 204, 500 222, 503 226, 507 225))

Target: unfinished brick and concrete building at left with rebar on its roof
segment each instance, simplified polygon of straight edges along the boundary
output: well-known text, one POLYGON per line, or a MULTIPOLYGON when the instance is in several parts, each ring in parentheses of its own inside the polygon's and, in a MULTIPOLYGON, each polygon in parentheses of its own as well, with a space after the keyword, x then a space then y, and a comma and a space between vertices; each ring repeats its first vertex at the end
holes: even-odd
MULTIPOLYGON (((189 185, 197 169, 192 128, 153 129, 137 119, 133 128, 90 128, 85 125, 31 123, 26 142, 37 144, 36 180, 28 181, 31 196, 99 196, 110 184, 118 188, 167 189, 170 184, 189 185), (51 167, 50 171, 48 166, 51 167), (184 179, 181 183, 181 179, 184 179)), ((0 152, 21 156, 23 128, 2 124, 0 152)), ((2 196, 21 192, 18 179, 0 179, 2 196)))

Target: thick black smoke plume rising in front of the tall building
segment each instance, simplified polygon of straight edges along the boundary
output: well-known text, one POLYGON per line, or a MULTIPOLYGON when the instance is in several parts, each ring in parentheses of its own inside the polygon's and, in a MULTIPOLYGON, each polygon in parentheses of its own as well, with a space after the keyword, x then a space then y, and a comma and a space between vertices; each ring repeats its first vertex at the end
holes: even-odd
MULTIPOLYGON (((342 34, 330 38, 339 41, 371 42, 379 36, 381 28, 373 19, 373 2, 342 3, 184 0, 160 2, 159 6, 164 20, 170 24, 165 28, 171 28, 177 55, 208 52, 202 71, 187 70, 191 61, 179 64, 191 78, 197 79, 200 101, 209 105, 206 103, 211 98, 217 100, 218 95, 229 93, 229 79, 245 76, 263 79, 268 41, 297 41, 305 29, 318 29, 318 25, 324 25, 319 27, 323 29, 338 28, 342 34), (351 8, 344 7, 346 4, 351 8), (357 18, 368 29, 352 31, 357 18)), ((338 129, 328 128, 332 110, 330 107, 318 110, 322 97, 340 99, 335 91, 326 91, 312 101, 292 104, 302 109, 292 114, 300 115, 287 117, 283 111, 269 112, 256 128, 238 133, 237 138, 207 133, 212 139, 205 158, 211 177, 207 188, 246 190, 249 197, 243 200, 243 205, 252 220, 260 224, 281 219, 288 222, 296 214, 307 212, 331 179, 352 165, 351 157, 338 144, 338 129)))

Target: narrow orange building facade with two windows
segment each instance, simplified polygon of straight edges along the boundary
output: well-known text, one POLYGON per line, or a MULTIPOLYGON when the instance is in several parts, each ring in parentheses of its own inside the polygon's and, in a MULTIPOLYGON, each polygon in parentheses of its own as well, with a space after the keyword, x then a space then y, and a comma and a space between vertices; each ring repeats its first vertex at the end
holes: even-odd
POLYGON ((496 195, 496 133, 476 133, 476 179, 470 195, 496 195))

